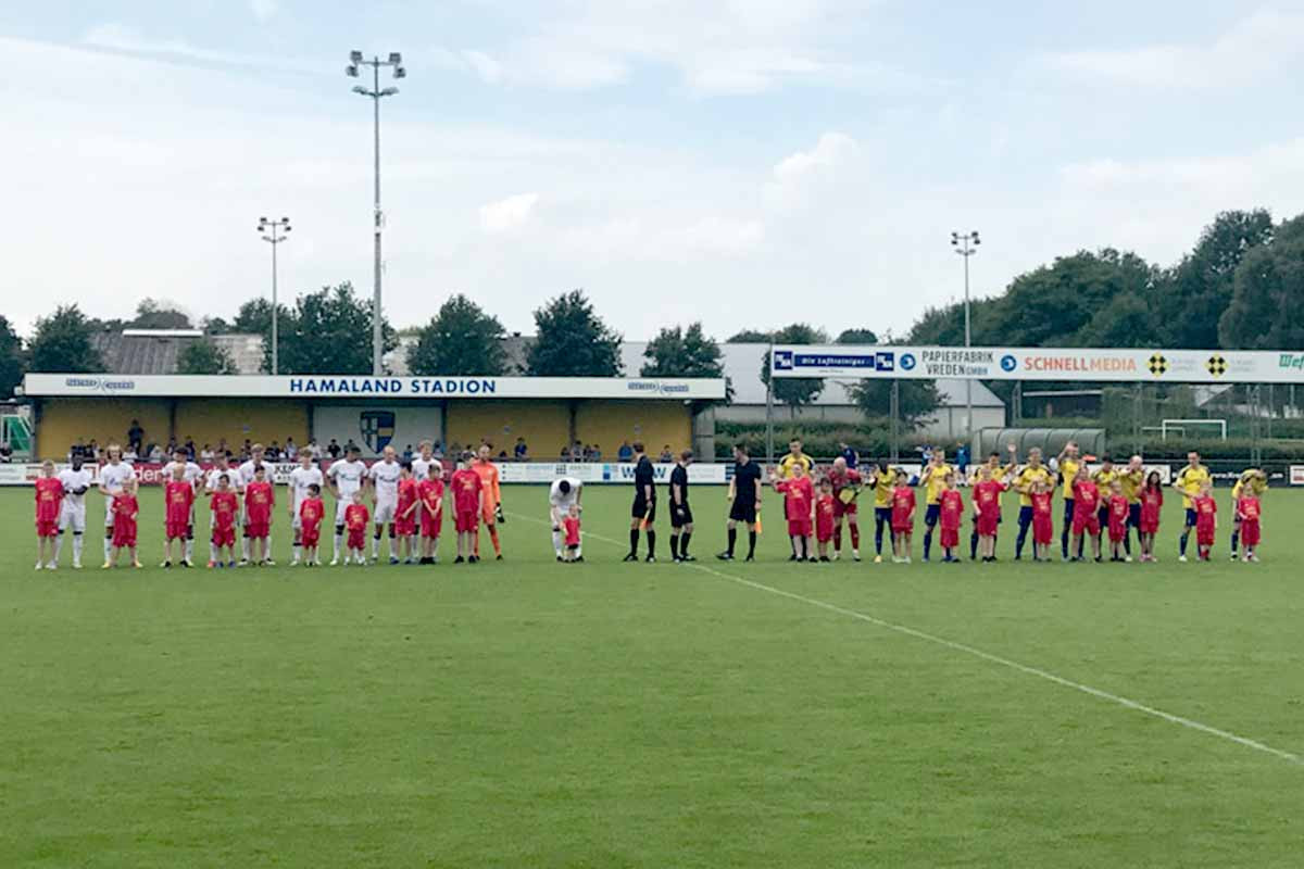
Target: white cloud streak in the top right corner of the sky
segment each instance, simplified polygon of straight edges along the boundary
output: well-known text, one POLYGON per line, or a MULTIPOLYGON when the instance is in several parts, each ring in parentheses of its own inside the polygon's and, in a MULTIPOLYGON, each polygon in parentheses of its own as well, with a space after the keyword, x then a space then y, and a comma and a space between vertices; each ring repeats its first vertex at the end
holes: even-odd
POLYGON ((1059 70, 1090 81, 1157 89, 1228 89, 1270 77, 1304 55, 1304 13, 1267 7, 1208 44, 1151 44, 1048 55, 1059 70))

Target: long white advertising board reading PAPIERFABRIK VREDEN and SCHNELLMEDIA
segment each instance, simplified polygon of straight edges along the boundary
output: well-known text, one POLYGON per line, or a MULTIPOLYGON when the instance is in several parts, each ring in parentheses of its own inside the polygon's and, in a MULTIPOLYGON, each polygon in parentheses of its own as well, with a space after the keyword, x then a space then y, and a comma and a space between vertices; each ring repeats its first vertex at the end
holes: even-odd
POLYGON ((1304 383, 1304 352, 776 344, 776 378, 1304 383))

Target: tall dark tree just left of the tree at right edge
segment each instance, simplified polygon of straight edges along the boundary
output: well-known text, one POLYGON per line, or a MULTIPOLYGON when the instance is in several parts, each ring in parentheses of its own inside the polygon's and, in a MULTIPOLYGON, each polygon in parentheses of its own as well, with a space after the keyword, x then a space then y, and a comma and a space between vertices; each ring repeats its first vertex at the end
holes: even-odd
POLYGON ((1205 227, 1192 250, 1166 274, 1155 306, 1164 347, 1214 348, 1223 313, 1231 304, 1236 270, 1257 248, 1273 240, 1273 218, 1256 211, 1224 211, 1205 227))

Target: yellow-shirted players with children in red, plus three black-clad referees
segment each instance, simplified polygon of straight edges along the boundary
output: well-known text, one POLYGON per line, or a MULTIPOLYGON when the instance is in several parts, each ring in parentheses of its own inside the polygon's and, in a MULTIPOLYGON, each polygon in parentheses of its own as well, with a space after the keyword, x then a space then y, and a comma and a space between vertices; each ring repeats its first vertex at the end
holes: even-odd
MULTIPOLYGON (((647 538, 645 560, 656 560, 656 481, 651 460, 635 444, 634 486, 635 496, 630 521, 630 551, 626 562, 638 560, 640 533, 647 538)), ((815 463, 806 456, 801 440, 789 444, 777 468, 768 474, 771 486, 784 495, 784 517, 792 543, 790 560, 836 560, 842 551, 842 528, 848 526, 852 556, 861 560, 858 495, 868 487, 874 492, 875 558, 883 562, 883 543, 887 532, 892 559, 909 563, 913 556, 913 538, 917 521, 915 487, 910 476, 887 463, 879 463, 861 473, 849 468, 838 457, 816 481, 815 463)), ((1031 558, 1037 562, 1051 559, 1054 546, 1054 494, 1063 492, 1064 509, 1060 532, 1060 558, 1084 560, 1088 541, 1091 558, 1104 560, 1106 541, 1108 558, 1114 562, 1132 560, 1132 535, 1137 538, 1141 562, 1155 562, 1155 537, 1159 532, 1164 487, 1158 472, 1145 472, 1140 456, 1132 456, 1125 466, 1116 466, 1108 457, 1099 468, 1088 473, 1076 443, 1064 447, 1052 470, 1042 461, 1042 451, 1029 451, 1028 461, 1020 463, 1017 448, 1011 444, 1003 463, 999 453, 978 465, 969 479, 971 530, 969 558, 995 562, 996 539, 1003 524, 1001 495, 1015 491, 1020 499, 1018 533, 1015 541, 1015 559, 1024 556, 1031 537, 1031 558)), ((670 476, 670 554, 675 562, 691 562, 689 541, 692 535, 692 511, 689 506, 687 466, 692 453, 685 451, 677 459, 670 476)), ((734 468, 729 483, 730 503, 726 524, 728 547, 717 558, 733 560, 737 551, 738 525, 746 525, 748 546, 746 560, 754 560, 756 537, 760 532, 763 473, 751 460, 746 444, 734 447, 734 468)), ((943 562, 958 562, 961 525, 965 498, 961 492, 960 472, 945 461, 941 451, 935 452, 919 474, 918 486, 925 492, 923 560, 932 556, 932 542, 940 530, 943 562)), ((1191 452, 1187 465, 1172 481, 1180 492, 1185 512, 1179 542, 1179 560, 1187 560, 1192 532, 1196 534, 1197 556, 1209 560, 1218 528, 1218 504, 1213 496, 1213 478, 1200 463, 1200 455, 1191 452)), ((1245 560, 1257 562, 1261 538, 1262 495, 1267 489, 1267 476, 1257 468, 1247 469, 1232 487, 1231 558, 1239 556, 1245 546, 1245 560)), ((554 533, 557 522, 554 517, 554 533)))

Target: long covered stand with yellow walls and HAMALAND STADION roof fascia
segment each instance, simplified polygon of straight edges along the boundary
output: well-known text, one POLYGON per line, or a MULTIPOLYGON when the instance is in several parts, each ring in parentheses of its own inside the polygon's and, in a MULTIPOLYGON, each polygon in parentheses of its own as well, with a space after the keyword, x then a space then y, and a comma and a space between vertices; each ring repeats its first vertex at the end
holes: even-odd
POLYGON ((303 446, 349 440, 365 457, 422 439, 445 448, 489 440, 512 453, 524 438, 535 460, 563 446, 597 444, 614 460, 623 440, 649 452, 691 447, 712 455, 712 426, 698 417, 725 397, 709 378, 475 378, 356 375, 29 374, 35 455, 61 459, 74 442, 125 443, 132 420, 146 443, 193 438, 200 447, 248 439, 303 446))

